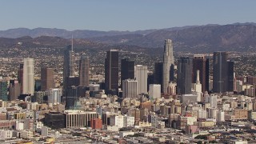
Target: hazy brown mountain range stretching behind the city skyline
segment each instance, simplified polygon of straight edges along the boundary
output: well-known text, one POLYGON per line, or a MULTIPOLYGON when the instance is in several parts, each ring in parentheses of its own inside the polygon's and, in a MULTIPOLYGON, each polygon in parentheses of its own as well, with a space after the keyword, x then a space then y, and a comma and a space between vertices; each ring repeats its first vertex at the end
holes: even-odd
POLYGON ((172 39, 175 51, 213 52, 256 51, 256 24, 183 26, 166 29, 137 31, 97 31, 62 29, 11 29, 0 31, 0 47, 14 46, 17 42, 27 46, 66 46, 74 36, 80 47, 138 46, 162 48, 164 40, 172 39))

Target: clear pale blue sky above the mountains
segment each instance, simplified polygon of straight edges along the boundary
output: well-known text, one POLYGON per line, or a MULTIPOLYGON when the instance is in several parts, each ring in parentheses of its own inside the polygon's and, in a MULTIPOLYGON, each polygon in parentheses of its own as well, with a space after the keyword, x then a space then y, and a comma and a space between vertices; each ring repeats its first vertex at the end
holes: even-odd
POLYGON ((255 0, 1 0, 0 30, 146 30, 256 22, 255 0))

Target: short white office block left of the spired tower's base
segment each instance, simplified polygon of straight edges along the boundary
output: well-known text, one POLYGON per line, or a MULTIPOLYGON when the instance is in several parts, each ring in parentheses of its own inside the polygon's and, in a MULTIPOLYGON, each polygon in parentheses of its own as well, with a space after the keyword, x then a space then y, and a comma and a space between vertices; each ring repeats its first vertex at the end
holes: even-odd
POLYGON ((61 89, 50 89, 48 91, 48 104, 61 103, 62 90, 61 89))

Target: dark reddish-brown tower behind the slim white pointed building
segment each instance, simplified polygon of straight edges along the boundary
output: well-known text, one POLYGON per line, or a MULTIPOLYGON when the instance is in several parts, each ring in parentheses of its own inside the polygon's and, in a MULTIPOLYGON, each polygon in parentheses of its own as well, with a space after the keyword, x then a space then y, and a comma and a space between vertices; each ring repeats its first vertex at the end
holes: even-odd
POLYGON ((192 83, 197 81, 197 70, 199 70, 202 92, 209 91, 209 58, 206 58, 203 54, 194 54, 192 83))

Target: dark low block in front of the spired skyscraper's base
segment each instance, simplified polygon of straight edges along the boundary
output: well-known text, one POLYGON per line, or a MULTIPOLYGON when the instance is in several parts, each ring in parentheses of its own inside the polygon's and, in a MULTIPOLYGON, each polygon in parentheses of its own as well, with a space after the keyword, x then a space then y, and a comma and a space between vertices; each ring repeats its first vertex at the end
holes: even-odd
POLYGON ((70 109, 74 106, 74 103, 78 101, 78 87, 69 86, 66 90, 66 109, 70 109))

